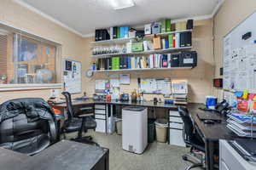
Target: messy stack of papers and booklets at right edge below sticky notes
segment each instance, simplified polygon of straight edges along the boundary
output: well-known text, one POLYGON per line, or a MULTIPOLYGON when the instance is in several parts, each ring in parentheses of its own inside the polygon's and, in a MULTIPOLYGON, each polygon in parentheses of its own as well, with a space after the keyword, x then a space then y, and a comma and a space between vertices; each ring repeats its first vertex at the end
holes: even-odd
POLYGON ((256 138, 256 116, 247 116, 239 111, 228 116, 227 127, 231 131, 241 137, 256 138))

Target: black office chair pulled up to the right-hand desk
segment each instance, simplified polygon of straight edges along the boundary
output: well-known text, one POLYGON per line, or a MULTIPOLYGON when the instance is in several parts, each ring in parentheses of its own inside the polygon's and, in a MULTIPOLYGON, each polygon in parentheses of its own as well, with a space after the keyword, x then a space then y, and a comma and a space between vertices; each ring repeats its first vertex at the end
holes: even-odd
POLYGON ((189 116, 189 111, 186 108, 181 106, 178 107, 179 115, 183 120, 183 140, 187 146, 190 147, 190 151, 188 154, 183 156, 184 161, 192 161, 194 164, 186 167, 186 170, 195 168, 195 167, 205 167, 205 159, 204 153, 205 143, 201 139, 199 133, 196 132, 194 128, 194 124, 189 116), (203 154, 199 154, 198 151, 203 152, 203 154), (199 156, 201 155, 201 159, 199 156))

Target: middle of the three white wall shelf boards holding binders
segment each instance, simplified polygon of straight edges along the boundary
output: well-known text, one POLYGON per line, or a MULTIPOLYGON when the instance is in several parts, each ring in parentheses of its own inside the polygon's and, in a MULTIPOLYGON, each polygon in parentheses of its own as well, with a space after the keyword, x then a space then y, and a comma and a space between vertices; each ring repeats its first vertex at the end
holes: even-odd
POLYGON ((101 58, 109 58, 112 56, 119 56, 119 55, 165 54, 165 53, 173 53, 173 52, 177 52, 177 51, 185 51, 185 50, 188 50, 191 48, 192 47, 166 48, 166 49, 148 50, 148 51, 135 52, 135 53, 98 54, 98 55, 92 55, 92 57, 96 58, 96 59, 101 59, 101 58))

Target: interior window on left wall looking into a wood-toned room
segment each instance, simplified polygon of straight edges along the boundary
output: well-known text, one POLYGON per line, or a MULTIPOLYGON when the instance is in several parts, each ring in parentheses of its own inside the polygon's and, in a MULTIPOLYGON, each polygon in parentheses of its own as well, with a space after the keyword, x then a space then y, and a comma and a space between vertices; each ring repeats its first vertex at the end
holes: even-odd
POLYGON ((0 84, 61 83, 56 65, 61 63, 60 48, 55 42, 0 26, 0 84))

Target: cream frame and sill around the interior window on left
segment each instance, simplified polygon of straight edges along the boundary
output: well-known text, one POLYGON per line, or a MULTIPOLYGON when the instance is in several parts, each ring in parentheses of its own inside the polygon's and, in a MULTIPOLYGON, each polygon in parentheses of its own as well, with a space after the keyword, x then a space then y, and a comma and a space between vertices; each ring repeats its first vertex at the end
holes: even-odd
POLYGON ((38 36, 36 34, 33 34, 29 31, 22 30, 19 28, 16 28, 14 26, 9 26, 3 22, 0 22, 0 28, 3 28, 7 31, 13 31, 15 33, 18 33, 20 35, 23 35, 25 37, 29 37, 32 39, 35 39, 36 41, 46 42, 51 45, 54 45, 56 48, 56 56, 55 56, 55 74, 59 74, 56 77, 55 83, 15 83, 15 84, 0 84, 0 92, 3 91, 22 91, 22 90, 34 90, 34 89, 57 89, 62 88, 62 74, 61 69, 62 65, 58 65, 58 63, 61 63, 61 48, 62 45, 60 42, 55 42, 54 40, 38 36), (61 75, 61 76, 60 76, 61 75))

